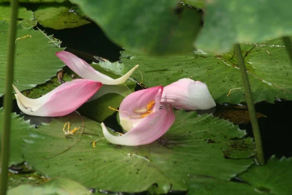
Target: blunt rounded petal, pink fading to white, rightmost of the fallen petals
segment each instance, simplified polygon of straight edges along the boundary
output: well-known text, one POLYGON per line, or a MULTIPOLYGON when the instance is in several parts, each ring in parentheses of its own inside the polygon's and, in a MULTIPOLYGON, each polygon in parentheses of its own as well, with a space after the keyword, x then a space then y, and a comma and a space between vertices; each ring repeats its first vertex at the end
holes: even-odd
POLYGON ((164 87, 162 103, 177 109, 207 110, 216 106, 205 83, 182 78, 164 87))

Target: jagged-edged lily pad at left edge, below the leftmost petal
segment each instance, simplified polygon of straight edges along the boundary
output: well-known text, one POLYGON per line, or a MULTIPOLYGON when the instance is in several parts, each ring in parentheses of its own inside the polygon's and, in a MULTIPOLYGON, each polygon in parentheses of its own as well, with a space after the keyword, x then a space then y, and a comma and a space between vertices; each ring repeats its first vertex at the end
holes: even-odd
MULTIPOLYGON (((2 128, 3 113, 3 109, 0 108, 0 128, 2 128)), ((19 117, 19 115, 15 113, 11 114, 9 166, 16 165, 23 161, 20 148, 23 144, 23 138, 28 136, 28 131, 32 128, 33 126, 29 125, 28 121, 24 121, 23 117, 19 117)), ((0 132, 2 132, 1 129, 0 132)), ((34 136, 34 134, 31 136, 34 136)))

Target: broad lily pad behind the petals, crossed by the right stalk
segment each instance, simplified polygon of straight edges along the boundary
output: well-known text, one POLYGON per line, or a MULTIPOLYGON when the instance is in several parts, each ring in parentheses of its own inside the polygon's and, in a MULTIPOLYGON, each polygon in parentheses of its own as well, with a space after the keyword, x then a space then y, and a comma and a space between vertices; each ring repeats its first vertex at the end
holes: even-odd
MULTIPOLYGON (((277 40, 266 44, 242 43, 242 52, 248 69, 248 76, 255 102, 274 102, 275 98, 292 100, 292 66, 283 43, 277 40)), ((201 80, 208 85, 211 95, 217 103, 244 102, 244 92, 237 60, 233 52, 222 56, 196 51, 183 56, 148 57, 135 52, 122 53, 124 71, 139 64, 143 74, 143 84, 148 87, 167 85, 180 78, 201 80), (127 68, 125 68, 128 67, 127 68), (227 97, 229 91, 234 88, 227 97)), ((108 64, 101 67, 110 68, 108 64)), ((139 72, 133 77, 141 81, 139 72)))

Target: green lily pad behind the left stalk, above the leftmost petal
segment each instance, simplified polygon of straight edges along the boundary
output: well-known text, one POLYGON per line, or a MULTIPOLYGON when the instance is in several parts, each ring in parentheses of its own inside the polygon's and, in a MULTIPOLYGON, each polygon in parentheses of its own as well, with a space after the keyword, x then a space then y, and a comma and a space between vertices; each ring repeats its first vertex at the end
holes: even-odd
MULTIPOLYGON (((0 49, 0 96, 4 94, 7 29, 8 24, 0 21, 0 45, 2 45, 0 49)), ((46 82, 64 66, 62 61, 55 56, 56 52, 61 51, 57 46, 60 41, 55 40, 54 44, 43 32, 33 30, 33 28, 22 28, 21 25, 18 25, 17 37, 22 39, 16 41, 14 84, 20 91, 46 82)))

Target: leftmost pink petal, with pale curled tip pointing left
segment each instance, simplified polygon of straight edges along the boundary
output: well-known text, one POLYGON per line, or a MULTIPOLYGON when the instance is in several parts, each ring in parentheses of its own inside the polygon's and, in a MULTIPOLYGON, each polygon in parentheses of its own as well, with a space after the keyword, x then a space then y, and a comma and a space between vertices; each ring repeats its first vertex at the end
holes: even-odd
POLYGON ((74 79, 58 86, 46 95, 31 99, 21 94, 13 85, 21 112, 39 117, 61 117, 72 113, 102 86, 101 82, 74 79))

